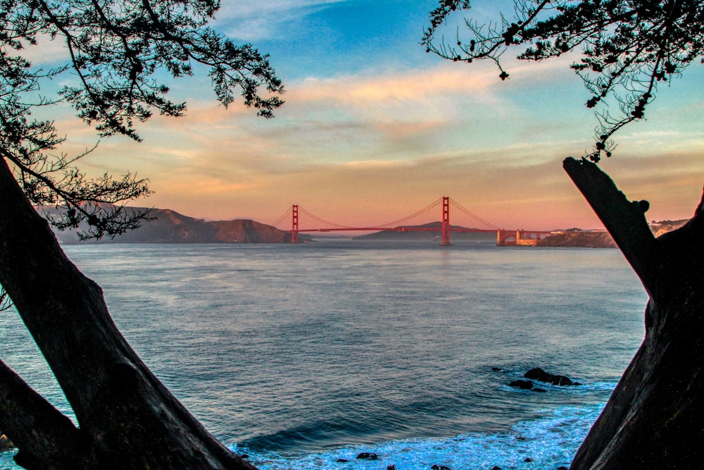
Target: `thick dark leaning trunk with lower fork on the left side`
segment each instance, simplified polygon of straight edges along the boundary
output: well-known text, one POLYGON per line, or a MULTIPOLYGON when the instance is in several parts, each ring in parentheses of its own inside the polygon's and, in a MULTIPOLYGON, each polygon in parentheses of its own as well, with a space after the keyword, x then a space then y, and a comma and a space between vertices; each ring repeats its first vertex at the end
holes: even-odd
POLYGON ((75 428, 0 364, 0 429, 18 445, 20 463, 37 469, 254 468, 218 443, 137 357, 108 314, 100 287, 66 258, 4 160, 0 284, 79 423, 75 428))

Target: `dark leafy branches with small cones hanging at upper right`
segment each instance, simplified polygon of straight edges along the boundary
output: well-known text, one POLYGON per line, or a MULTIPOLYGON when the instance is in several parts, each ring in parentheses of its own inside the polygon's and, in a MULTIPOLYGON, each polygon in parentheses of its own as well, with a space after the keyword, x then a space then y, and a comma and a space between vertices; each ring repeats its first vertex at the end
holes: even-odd
POLYGON ((661 82, 669 82, 704 52, 704 2, 697 0, 515 0, 514 18, 495 23, 465 19, 466 30, 448 42, 441 34, 448 16, 469 10, 469 0, 441 0, 422 39, 428 52, 453 61, 494 61, 505 80, 501 55, 520 47, 529 61, 570 54, 581 48, 572 69, 598 109, 595 144, 586 156, 611 156, 611 137, 645 117, 661 82), (441 35, 441 39, 437 39, 441 35), (608 104, 618 104, 616 111, 608 104))

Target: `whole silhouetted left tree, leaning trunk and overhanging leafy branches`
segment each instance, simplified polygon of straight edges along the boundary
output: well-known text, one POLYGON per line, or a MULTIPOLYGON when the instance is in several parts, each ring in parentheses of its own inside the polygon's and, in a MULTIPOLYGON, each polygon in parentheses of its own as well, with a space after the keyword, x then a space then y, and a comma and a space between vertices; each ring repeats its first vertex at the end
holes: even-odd
POLYGON ((208 28, 217 9, 215 0, 0 0, 0 306, 11 299, 78 422, 0 361, 0 429, 27 469, 253 468, 153 376, 115 327, 100 287, 33 208, 62 209, 51 223, 81 223, 83 237, 112 237, 149 217, 121 208, 149 193, 146 180, 90 179, 75 166, 83 155, 58 153, 64 139, 54 123, 33 118, 46 106, 70 104, 99 135, 139 140, 135 123, 185 111, 163 79, 202 64, 220 103, 239 92, 272 117, 284 90, 268 56, 208 28), (63 65, 33 66, 26 48, 48 39, 63 44, 63 65), (46 95, 59 77, 68 85, 46 95))

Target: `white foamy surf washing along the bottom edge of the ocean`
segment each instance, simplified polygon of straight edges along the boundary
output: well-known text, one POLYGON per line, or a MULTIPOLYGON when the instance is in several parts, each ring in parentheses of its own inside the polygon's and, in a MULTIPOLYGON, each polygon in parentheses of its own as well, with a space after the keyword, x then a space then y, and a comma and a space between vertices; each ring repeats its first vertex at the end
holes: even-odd
POLYGON ((552 409, 546 412, 545 418, 522 421, 507 433, 398 440, 296 457, 250 452, 244 447, 234 447, 233 450, 248 454, 250 462, 261 470, 384 470, 392 464, 397 470, 428 470, 435 464, 453 470, 492 469, 494 466, 517 470, 557 469, 570 466, 574 453, 601 409, 603 404, 552 409), (356 456, 360 452, 374 452, 379 458, 358 460, 356 456), (348 462, 338 462, 339 459, 348 462))

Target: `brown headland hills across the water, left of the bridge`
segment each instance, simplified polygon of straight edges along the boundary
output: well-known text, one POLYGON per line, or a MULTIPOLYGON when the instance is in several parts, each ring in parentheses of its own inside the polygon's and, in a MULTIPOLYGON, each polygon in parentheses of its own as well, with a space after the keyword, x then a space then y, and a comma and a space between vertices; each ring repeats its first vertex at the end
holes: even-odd
MULTIPOLYGON (((140 208, 126 208, 139 210, 140 208)), ((40 213, 55 213, 54 208, 39 208, 40 213)), ((149 214, 156 219, 144 221, 142 226, 118 235, 114 239, 89 240, 80 242, 76 230, 59 232, 54 230, 58 241, 74 243, 284 243, 291 241, 291 234, 284 230, 252 221, 237 218, 231 221, 206 221, 179 214, 171 209, 151 209, 149 214)), ((310 240, 299 235, 301 240, 310 240)))

